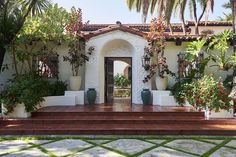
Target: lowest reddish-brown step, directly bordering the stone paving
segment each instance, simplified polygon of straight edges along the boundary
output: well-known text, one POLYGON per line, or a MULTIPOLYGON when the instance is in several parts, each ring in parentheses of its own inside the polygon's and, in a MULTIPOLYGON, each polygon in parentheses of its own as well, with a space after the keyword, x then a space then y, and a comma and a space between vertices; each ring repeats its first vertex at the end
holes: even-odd
POLYGON ((25 124, 1 126, 0 135, 236 135, 236 125, 25 124))

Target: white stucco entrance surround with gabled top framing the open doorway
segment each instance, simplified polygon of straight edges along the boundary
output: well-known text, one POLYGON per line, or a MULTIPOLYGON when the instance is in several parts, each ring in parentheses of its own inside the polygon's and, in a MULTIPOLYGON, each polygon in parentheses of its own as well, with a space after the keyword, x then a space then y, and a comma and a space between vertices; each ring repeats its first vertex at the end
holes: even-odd
POLYGON ((104 103, 104 57, 132 57, 132 103, 141 103, 143 88, 151 88, 150 83, 142 82, 146 72, 142 68, 141 56, 147 41, 137 35, 122 31, 113 31, 99 35, 87 42, 87 47, 94 46, 92 59, 85 67, 85 89, 97 90, 96 103, 104 103))

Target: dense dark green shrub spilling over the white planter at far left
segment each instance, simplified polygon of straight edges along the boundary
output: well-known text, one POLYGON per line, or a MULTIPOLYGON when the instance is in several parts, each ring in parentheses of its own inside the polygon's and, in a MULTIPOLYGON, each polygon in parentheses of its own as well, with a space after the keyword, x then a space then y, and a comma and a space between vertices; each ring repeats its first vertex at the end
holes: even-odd
POLYGON ((14 110, 17 104, 24 104, 27 112, 37 109, 45 96, 63 95, 66 84, 62 81, 49 82, 36 74, 18 75, 10 81, 1 93, 0 100, 7 113, 14 110))

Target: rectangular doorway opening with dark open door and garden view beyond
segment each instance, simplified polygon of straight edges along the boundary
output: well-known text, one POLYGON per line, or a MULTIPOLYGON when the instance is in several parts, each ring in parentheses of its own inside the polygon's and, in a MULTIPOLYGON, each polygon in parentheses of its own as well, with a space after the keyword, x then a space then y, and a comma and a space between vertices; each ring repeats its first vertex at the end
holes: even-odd
POLYGON ((132 57, 105 57, 105 103, 132 103, 132 57))

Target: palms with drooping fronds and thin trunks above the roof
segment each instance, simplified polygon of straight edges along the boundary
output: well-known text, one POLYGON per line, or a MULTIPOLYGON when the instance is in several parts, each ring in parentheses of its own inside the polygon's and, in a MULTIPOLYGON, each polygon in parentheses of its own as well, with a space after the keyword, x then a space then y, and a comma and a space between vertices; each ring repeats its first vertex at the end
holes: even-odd
MULTIPOLYGON (((205 21, 208 20, 209 11, 213 12, 214 0, 127 0, 129 9, 136 9, 138 12, 142 11, 144 17, 147 17, 149 8, 151 8, 151 14, 155 10, 158 11, 158 17, 164 16, 166 23, 170 24, 173 11, 179 11, 180 19, 182 21, 182 27, 185 31, 185 10, 187 4, 189 4, 190 14, 193 13, 195 22, 195 34, 199 35, 199 23, 205 14, 205 21), (197 5, 200 4, 202 12, 200 16, 197 15, 197 5)), ((146 18, 144 18, 146 19, 146 18)), ((145 21, 144 21, 145 22, 145 21)))

